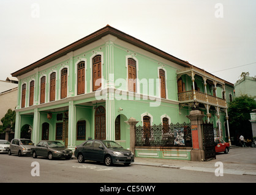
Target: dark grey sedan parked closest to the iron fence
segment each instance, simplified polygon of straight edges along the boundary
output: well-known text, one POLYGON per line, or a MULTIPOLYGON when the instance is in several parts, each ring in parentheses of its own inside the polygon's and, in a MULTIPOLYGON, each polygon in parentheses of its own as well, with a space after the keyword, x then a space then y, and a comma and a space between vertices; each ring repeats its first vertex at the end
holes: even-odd
POLYGON ((115 141, 88 140, 75 147, 75 157, 79 163, 85 160, 104 162, 111 166, 113 163, 124 163, 130 165, 134 162, 134 154, 124 149, 115 141))

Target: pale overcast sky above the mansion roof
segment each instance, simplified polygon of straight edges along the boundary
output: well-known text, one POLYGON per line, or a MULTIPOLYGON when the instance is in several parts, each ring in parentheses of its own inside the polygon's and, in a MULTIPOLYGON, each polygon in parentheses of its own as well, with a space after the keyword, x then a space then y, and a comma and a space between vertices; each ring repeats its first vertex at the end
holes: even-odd
POLYGON ((109 24, 235 83, 256 76, 256 1, 0 1, 0 80, 109 24))

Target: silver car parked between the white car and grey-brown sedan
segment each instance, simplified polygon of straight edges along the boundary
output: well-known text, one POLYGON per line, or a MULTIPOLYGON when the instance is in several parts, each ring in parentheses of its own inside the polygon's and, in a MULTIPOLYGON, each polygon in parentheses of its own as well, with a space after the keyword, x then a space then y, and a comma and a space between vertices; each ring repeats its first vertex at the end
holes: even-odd
POLYGON ((10 148, 9 148, 9 155, 12 154, 18 154, 19 157, 22 155, 31 155, 31 147, 34 146, 34 143, 32 143, 29 139, 13 139, 10 142, 10 148))

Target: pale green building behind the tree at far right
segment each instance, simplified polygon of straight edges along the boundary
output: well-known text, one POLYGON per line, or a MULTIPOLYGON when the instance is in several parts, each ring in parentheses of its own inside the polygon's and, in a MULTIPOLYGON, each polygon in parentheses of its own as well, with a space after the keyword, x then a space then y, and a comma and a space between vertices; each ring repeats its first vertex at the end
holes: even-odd
MULTIPOLYGON (((246 76, 235 83, 236 97, 242 94, 256 96, 256 77, 246 76)), ((256 98, 255 98, 256 99, 256 98)))

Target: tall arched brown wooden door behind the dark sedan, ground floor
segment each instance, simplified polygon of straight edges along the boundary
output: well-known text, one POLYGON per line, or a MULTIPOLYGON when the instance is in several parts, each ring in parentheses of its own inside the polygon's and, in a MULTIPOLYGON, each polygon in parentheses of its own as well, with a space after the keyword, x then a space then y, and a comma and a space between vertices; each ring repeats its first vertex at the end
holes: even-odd
POLYGON ((95 112, 95 139, 106 139, 106 112, 103 106, 96 108, 95 112))

